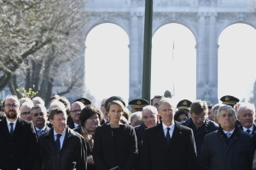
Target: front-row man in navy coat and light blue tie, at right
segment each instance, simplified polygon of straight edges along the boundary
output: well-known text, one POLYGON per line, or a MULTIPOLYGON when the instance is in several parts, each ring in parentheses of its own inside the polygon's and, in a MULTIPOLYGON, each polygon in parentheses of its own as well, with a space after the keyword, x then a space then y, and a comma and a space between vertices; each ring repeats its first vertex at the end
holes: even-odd
POLYGON ((223 105, 217 112, 219 129, 205 136, 201 149, 202 170, 252 169, 253 137, 236 125, 236 111, 223 105))

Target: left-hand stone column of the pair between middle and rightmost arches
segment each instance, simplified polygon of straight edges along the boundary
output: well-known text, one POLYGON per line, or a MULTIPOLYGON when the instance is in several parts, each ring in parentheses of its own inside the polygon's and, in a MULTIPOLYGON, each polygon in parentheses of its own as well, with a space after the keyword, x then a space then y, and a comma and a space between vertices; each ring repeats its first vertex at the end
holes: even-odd
POLYGON ((196 99, 204 99, 204 91, 208 75, 206 18, 203 13, 199 13, 198 16, 198 40, 196 44, 196 99))

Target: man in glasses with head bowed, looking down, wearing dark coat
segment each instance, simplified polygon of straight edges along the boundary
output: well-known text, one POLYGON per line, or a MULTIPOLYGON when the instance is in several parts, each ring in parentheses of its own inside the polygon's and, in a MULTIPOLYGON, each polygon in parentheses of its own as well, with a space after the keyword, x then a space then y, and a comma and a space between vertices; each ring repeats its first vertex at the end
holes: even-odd
POLYGON ((182 122, 183 126, 190 127, 195 136, 196 146, 196 170, 201 170, 200 155, 201 146, 207 133, 218 130, 218 124, 207 119, 208 106, 206 101, 195 100, 190 106, 190 118, 182 122))

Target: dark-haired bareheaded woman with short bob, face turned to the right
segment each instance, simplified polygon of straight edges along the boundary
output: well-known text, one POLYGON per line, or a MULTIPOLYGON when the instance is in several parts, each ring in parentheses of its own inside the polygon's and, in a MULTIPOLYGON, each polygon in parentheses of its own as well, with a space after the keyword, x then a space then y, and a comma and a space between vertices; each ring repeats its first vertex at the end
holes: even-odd
POLYGON ((79 119, 81 121, 81 127, 74 129, 74 131, 80 133, 86 141, 87 170, 96 170, 92 156, 92 148, 94 145, 94 133, 96 127, 100 125, 100 111, 93 105, 86 105, 80 112, 79 119))

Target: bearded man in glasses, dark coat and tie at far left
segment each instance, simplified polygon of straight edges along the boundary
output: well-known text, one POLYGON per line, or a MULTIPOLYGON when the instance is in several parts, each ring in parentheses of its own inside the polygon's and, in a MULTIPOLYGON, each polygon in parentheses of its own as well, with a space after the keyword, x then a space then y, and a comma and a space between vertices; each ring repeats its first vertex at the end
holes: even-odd
POLYGON ((4 102, 6 118, 0 122, 0 169, 32 169, 38 156, 32 122, 20 118, 20 101, 9 95, 4 102))

